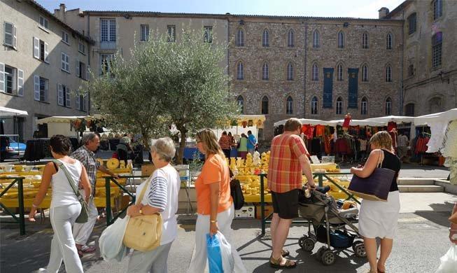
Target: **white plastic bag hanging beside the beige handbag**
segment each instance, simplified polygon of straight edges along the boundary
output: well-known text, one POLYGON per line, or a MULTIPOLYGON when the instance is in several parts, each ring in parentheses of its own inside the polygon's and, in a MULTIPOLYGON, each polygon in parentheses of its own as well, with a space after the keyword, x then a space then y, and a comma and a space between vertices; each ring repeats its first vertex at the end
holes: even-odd
POLYGON ((101 232, 99 239, 100 255, 104 260, 120 262, 127 254, 127 247, 122 244, 129 216, 118 218, 112 225, 101 232))

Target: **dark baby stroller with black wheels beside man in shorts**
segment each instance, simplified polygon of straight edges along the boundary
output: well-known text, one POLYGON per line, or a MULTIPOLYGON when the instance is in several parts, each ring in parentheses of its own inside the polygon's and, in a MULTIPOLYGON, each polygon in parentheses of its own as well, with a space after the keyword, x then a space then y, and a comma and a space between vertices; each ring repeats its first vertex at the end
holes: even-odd
POLYGON ((299 214, 308 221, 308 235, 298 239, 298 244, 304 251, 312 251, 317 241, 327 246, 319 248, 317 258, 324 265, 332 265, 338 251, 344 251, 352 246, 353 253, 358 257, 366 257, 365 246, 358 234, 358 209, 339 210, 337 202, 329 195, 311 192, 311 197, 300 194, 299 214), (314 233, 311 232, 311 225, 314 233))

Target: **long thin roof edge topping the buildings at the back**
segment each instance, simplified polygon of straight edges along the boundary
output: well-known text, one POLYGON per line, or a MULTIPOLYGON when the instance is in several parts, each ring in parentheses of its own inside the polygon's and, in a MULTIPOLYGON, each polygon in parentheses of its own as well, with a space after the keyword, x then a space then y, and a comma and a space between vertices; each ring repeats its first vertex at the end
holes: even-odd
POLYGON ((269 18, 269 19, 295 19, 295 20, 363 20, 363 21, 398 21, 372 18, 350 18, 350 17, 315 17, 315 16, 286 16, 286 15, 248 15, 248 14, 217 14, 217 13, 160 13, 155 11, 134 11, 134 10, 85 10, 83 14, 114 15, 114 16, 157 16, 157 17, 197 17, 197 18, 269 18))

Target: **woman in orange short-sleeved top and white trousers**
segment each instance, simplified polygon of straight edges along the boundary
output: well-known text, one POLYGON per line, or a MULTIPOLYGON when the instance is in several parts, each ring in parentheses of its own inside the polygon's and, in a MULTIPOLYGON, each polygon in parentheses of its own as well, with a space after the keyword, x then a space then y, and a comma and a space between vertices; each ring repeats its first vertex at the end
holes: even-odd
MULTIPOLYGON (((206 235, 221 232, 230 241, 234 218, 233 200, 230 196, 230 174, 225 156, 213 131, 204 129, 197 133, 197 148, 205 155, 202 173, 195 181, 197 191, 197 223, 195 224, 195 253, 189 273, 204 272, 206 267, 206 235)), ((235 268, 246 272, 236 248, 232 246, 235 268)), ((238 272, 238 271, 237 271, 238 272)))

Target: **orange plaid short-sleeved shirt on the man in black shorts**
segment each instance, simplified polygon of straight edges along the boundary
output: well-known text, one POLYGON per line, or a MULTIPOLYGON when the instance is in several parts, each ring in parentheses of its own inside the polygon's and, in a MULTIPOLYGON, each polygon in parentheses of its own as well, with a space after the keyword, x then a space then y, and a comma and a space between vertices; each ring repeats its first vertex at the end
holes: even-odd
POLYGON ((272 140, 268 165, 268 188, 287 193, 302 188, 302 167, 298 158, 308 155, 303 140, 295 134, 280 134, 272 140))

